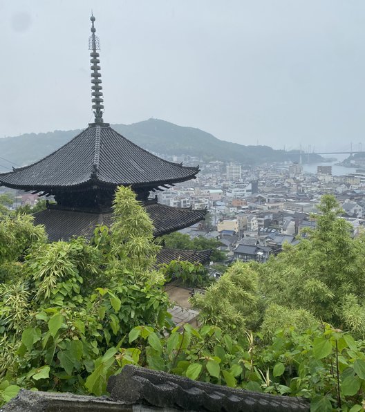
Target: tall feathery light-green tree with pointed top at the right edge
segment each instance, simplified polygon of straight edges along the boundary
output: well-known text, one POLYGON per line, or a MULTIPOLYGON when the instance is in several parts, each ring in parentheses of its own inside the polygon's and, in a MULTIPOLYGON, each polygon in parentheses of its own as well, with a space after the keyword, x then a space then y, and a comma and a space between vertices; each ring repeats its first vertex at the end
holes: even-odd
POLYGON ((317 228, 307 231, 299 245, 283 252, 257 270, 269 303, 305 309, 317 319, 365 332, 365 247, 350 236, 350 225, 337 215, 337 200, 326 195, 315 216, 317 228))

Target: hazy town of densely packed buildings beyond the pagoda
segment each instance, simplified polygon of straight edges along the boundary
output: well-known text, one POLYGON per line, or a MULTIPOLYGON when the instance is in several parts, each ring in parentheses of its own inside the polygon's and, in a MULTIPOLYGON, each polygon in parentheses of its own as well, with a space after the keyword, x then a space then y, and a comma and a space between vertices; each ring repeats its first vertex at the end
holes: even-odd
MULTIPOLYGON (((193 181, 159 188, 151 197, 172 207, 207 209, 205 221, 180 230, 190 238, 203 236, 221 242, 228 260, 265 262, 281 251, 283 243, 296 244, 297 235, 314 227, 322 195, 334 194, 352 225, 353 236, 365 231, 365 169, 333 176, 332 166, 321 165, 317 173, 290 163, 245 167, 233 162, 203 162, 194 156, 164 156, 176 163, 200 167, 193 181)), ((10 209, 39 201, 37 194, 1 187, 12 194, 10 209)))

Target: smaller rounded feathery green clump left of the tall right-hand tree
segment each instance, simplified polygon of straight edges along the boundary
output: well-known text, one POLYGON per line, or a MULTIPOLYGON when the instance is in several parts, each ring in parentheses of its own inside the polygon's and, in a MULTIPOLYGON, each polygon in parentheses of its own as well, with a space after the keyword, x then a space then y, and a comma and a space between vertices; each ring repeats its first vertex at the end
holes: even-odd
POLYGON ((234 334, 241 335, 258 326, 262 300, 258 275, 250 265, 236 261, 205 294, 191 298, 191 303, 200 310, 205 324, 219 326, 227 333, 234 329, 234 334))

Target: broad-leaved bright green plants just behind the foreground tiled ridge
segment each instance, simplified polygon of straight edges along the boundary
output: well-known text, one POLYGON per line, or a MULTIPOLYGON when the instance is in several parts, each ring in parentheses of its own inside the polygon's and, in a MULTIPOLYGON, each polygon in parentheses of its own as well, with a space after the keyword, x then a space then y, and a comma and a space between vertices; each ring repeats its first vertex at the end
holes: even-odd
MULTIPOLYGON (((68 315, 38 317, 38 328, 24 331, 17 350, 20 370, 32 364, 20 382, 33 388, 45 390, 52 384, 53 389, 102 395, 110 375, 135 364, 201 382, 306 397, 314 411, 360 410, 356 405, 361 407, 364 397, 364 341, 327 324, 302 333, 293 327, 279 330, 268 344, 260 334, 234 339, 216 326, 185 324, 168 333, 160 327, 135 326, 118 344, 100 350, 95 341, 84 339, 68 315), (52 357, 55 347, 57 356, 52 357), (45 362, 35 364, 39 354, 45 362), (54 360, 46 364, 47 359, 54 360)), ((3 387, 13 385, 9 375, 3 382, 1 395, 3 387)), ((8 392, 16 393, 16 386, 8 392)))

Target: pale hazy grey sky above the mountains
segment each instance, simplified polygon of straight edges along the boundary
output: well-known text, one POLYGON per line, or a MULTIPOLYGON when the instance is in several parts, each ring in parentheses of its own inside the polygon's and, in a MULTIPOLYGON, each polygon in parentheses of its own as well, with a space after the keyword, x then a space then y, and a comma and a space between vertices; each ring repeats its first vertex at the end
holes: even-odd
POLYGON ((364 0, 0 0, 0 136, 148 118, 222 140, 365 147, 364 0))

